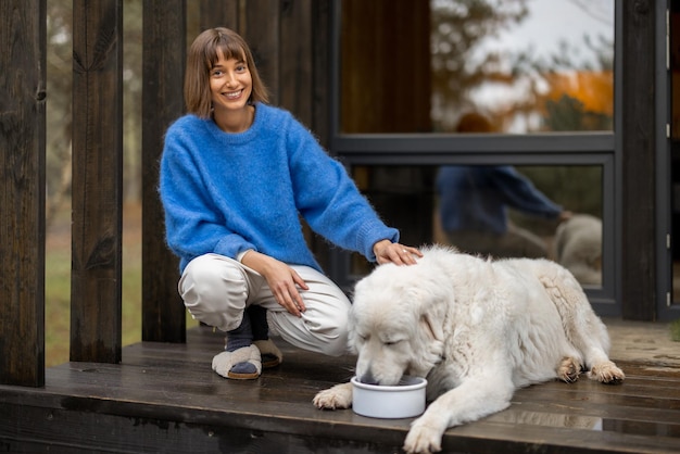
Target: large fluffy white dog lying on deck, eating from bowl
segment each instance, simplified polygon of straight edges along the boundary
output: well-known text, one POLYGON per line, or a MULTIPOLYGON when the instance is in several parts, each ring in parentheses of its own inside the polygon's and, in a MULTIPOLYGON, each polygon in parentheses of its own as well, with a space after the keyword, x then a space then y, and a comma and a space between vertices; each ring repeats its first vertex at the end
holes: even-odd
MULTIPOLYGON (((362 381, 427 377, 428 401, 404 443, 440 451, 448 427, 499 412, 515 389, 582 367, 604 383, 624 373, 607 357, 606 327, 571 274, 545 260, 484 261, 442 247, 416 265, 378 266, 355 289, 350 344, 362 381)), ((352 404, 350 383, 320 391, 319 408, 352 404)))

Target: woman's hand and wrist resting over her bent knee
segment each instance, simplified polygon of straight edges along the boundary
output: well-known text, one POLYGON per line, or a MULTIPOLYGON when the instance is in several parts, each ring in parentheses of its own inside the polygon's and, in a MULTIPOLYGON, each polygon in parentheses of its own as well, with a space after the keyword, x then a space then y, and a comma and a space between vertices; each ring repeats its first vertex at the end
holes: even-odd
POLYGON ((274 257, 255 251, 249 251, 241 263, 260 273, 267 281, 276 302, 295 317, 306 310, 298 287, 308 290, 305 281, 290 266, 274 257))

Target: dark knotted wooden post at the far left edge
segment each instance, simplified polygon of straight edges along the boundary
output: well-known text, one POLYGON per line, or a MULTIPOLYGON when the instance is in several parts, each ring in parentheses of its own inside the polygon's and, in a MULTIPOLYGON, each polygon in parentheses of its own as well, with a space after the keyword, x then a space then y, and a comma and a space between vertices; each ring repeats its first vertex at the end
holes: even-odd
POLYGON ((45 0, 0 2, 0 383, 45 383, 45 0))

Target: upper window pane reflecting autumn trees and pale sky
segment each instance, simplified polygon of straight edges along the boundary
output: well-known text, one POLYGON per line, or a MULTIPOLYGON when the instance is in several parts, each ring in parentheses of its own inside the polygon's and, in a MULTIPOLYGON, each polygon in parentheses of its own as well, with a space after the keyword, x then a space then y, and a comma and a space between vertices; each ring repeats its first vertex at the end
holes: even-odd
POLYGON ((343 0, 341 133, 612 130, 614 0, 343 0))

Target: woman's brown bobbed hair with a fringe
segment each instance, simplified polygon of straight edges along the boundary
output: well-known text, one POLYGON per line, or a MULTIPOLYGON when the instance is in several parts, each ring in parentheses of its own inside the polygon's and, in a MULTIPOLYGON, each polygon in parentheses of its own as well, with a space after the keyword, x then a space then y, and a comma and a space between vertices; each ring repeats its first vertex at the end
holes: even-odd
POLYGON ((253 81, 248 102, 268 102, 269 93, 260 78, 248 43, 236 31, 218 27, 209 28, 201 33, 189 48, 185 74, 187 110, 201 118, 210 117, 212 110, 210 72, 219 60, 221 54, 227 60, 243 60, 248 65, 253 81))

